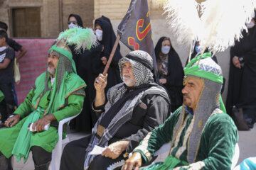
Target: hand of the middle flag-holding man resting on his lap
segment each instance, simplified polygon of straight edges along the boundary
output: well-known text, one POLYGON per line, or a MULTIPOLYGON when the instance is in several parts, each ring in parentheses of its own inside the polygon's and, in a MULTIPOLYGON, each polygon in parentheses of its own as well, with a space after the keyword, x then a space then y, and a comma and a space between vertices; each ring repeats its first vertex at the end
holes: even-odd
POLYGON ((129 141, 114 142, 102 152, 102 156, 116 159, 125 149, 127 149, 128 144, 129 141))

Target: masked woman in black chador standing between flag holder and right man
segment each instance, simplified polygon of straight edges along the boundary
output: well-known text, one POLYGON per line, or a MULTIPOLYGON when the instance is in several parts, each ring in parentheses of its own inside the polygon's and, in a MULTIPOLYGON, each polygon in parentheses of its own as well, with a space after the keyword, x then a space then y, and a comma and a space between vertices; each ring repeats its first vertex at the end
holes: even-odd
POLYGON ((170 38, 161 37, 155 47, 159 82, 166 87, 171 98, 171 112, 182 105, 183 67, 170 38))

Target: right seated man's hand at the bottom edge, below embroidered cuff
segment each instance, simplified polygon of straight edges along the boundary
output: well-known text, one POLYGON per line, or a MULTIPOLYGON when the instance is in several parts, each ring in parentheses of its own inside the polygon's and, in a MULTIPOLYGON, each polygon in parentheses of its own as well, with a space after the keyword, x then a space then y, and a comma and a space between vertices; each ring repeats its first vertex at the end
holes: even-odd
POLYGON ((139 170, 140 166, 142 166, 142 154, 134 152, 132 157, 124 163, 122 170, 132 170, 133 167, 135 167, 134 170, 139 170))

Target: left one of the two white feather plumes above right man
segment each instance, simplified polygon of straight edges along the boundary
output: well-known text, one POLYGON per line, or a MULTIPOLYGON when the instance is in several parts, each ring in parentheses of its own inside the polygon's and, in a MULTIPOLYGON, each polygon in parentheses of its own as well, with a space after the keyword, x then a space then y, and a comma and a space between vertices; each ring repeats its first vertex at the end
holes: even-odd
POLYGON ((171 33, 180 45, 190 47, 198 39, 202 23, 198 16, 198 3, 193 0, 169 0, 164 6, 171 33))

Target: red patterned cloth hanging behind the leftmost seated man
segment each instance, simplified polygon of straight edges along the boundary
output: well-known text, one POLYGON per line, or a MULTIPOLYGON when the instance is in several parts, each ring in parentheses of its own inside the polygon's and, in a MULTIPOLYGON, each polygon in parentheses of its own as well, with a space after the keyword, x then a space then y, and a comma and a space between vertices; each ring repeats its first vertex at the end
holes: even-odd
MULTIPOLYGON (((55 39, 14 39, 20 45, 26 48, 27 52, 19 63, 19 70, 21 74, 20 84, 15 85, 16 94, 18 97, 18 104, 20 105, 26 95, 35 84, 36 78, 43 72, 46 72, 46 64, 48 57, 48 50, 55 39)), ((18 54, 16 53, 16 56, 18 54)))

